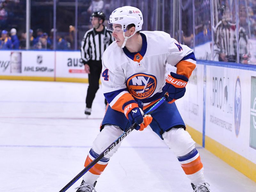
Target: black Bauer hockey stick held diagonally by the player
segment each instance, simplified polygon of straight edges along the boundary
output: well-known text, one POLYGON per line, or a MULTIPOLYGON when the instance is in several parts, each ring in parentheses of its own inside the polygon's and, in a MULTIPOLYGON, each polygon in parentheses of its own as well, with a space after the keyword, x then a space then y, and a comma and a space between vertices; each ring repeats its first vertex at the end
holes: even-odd
MULTIPOLYGON (((145 113, 145 115, 148 115, 150 112, 158 108, 167 98, 167 95, 164 95, 159 101, 157 101, 148 111, 145 113)), ((60 190, 60 192, 67 191, 68 188, 70 188, 77 180, 79 180, 87 171, 89 171, 93 165, 98 163, 100 159, 102 159, 105 155, 108 154, 109 151, 111 151, 118 143, 120 143, 134 128, 136 124, 134 123, 126 132, 124 132, 122 135, 120 135, 113 143, 111 143, 108 148, 106 148, 97 158, 95 158, 89 165, 87 165, 74 179, 72 179, 64 188, 60 190)))

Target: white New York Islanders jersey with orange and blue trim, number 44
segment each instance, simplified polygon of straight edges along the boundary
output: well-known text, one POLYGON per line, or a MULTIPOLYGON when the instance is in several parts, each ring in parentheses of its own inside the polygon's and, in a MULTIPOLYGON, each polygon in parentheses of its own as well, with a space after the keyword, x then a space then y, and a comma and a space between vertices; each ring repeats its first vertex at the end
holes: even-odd
POLYGON ((163 31, 142 31, 140 52, 131 53, 116 42, 102 57, 101 83, 110 107, 123 112, 124 103, 141 100, 144 106, 159 100, 164 92, 166 64, 189 78, 196 67, 193 50, 163 31))

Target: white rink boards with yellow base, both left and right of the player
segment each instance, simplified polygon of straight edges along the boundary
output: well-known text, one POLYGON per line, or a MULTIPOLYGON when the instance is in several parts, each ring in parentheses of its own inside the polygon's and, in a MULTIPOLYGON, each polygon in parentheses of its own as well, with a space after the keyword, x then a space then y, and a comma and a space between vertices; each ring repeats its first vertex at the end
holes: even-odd
MULTIPOLYGON (((0 79, 88 82, 80 58, 78 51, 1 51, 0 79)), ((256 181, 256 68, 201 60, 186 89, 176 104, 192 138, 256 181)))

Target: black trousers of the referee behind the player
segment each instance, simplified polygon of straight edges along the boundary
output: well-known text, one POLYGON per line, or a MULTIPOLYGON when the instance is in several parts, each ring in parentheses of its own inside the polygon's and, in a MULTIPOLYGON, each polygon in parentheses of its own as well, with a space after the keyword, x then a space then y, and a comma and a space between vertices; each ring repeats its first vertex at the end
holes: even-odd
MULTIPOLYGON (((102 69, 102 63, 100 61, 89 61, 88 65, 90 67, 90 74, 88 74, 89 86, 86 95, 86 107, 92 108, 92 101, 95 98, 95 94, 99 89, 99 80, 102 69)), ((107 100, 105 99, 105 104, 107 105, 107 100)))

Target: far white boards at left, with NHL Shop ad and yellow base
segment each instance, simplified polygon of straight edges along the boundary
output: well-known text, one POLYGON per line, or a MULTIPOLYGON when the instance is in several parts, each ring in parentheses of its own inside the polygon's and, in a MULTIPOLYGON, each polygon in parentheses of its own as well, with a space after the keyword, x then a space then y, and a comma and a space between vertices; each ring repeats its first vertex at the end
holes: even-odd
POLYGON ((1 51, 0 79, 87 82, 78 51, 1 51))

